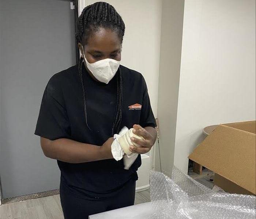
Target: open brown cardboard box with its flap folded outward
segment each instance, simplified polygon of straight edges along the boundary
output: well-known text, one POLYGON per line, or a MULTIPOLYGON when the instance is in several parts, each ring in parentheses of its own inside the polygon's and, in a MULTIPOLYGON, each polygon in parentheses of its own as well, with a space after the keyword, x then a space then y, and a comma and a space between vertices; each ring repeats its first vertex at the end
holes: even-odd
POLYGON ((255 133, 255 121, 221 124, 188 158, 215 172, 226 192, 255 195, 255 133))

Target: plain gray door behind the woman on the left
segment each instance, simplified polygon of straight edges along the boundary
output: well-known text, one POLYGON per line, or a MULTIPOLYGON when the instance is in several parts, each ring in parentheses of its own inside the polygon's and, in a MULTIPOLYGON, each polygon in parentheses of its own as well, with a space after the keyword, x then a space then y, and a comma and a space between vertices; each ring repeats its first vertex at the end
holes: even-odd
POLYGON ((49 78, 75 65, 69 1, 1 0, 0 175, 3 197, 59 188, 56 160, 34 135, 49 78))

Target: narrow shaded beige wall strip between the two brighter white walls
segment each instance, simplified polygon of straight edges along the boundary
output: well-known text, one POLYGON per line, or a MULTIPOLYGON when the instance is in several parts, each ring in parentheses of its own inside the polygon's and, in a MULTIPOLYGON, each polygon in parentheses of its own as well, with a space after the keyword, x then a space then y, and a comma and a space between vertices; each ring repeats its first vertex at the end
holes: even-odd
MULTIPOLYGON (((158 89, 158 119, 162 170, 171 172, 174 159, 184 0, 163 0, 158 89)), ((156 150, 155 169, 159 169, 156 150)))

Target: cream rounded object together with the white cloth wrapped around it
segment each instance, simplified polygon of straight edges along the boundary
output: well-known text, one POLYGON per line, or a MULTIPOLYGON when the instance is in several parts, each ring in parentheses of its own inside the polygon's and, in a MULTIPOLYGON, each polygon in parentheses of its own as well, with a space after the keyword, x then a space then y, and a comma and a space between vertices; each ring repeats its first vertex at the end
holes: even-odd
POLYGON ((124 169, 129 169, 138 157, 137 153, 132 153, 129 150, 130 145, 139 147, 138 144, 131 141, 131 137, 144 139, 141 136, 135 135, 132 130, 134 128, 128 129, 124 126, 118 134, 114 135, 114 141, 111 145, 111 152, 116 161, 124 158, 124 169), (124 155, 125 154, 125 155, 124 155), (124 156, 123 156, 124 155, 124 156))

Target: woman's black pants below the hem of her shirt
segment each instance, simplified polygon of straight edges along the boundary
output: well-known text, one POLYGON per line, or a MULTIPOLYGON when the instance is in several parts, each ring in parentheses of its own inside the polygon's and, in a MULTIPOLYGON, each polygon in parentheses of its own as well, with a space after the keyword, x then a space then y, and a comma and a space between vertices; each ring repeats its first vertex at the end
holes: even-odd
POLYGON ((104 199, 87 200, 76 197, 66 185, 60 184, 60 201, 65 219, 88 219, 89 215, 134 204, 134 179, 129 180, 114 196, 104 199))

